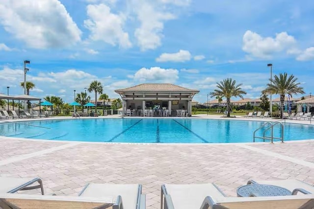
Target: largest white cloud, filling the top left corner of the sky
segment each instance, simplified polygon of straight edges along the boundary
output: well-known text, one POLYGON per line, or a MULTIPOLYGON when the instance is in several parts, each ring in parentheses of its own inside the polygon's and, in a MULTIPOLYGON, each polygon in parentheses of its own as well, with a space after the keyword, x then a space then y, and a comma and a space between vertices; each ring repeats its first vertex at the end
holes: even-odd
POLYGON ((33 48, 71 46, 81 31, 59 0, 1 0, 0 24, 33 48))

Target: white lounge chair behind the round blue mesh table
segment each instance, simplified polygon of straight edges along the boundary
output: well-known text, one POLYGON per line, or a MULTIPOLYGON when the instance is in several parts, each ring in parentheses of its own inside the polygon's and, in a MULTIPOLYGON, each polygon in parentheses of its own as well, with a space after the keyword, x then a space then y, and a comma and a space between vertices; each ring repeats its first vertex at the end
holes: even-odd
POLYGON ((261 184, 261 185, 273 185, 287 188, 291 191, 292 195, 301 194, 301 193, 313 193, 314 194, 314 186, 301 182, 296 179, 287 179, 287 180, 272 180, 272 181, 254 181, 249 180, 247 184, 261 184), (298 193, 299 192, 299 193, 298 193))

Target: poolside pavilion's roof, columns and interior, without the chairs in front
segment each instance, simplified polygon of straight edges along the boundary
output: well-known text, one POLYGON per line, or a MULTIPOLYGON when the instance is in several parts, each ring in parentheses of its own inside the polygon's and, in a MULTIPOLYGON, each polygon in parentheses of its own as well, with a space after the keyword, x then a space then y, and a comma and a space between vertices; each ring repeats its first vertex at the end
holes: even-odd
POLYGON ((174 84, 140 84, 115 90, 122 98, 123 115, 127 109, 153 109, 158 106, 173 110, 187 110, 192 114, 192 99, 198 90, 187 89, 174 84))

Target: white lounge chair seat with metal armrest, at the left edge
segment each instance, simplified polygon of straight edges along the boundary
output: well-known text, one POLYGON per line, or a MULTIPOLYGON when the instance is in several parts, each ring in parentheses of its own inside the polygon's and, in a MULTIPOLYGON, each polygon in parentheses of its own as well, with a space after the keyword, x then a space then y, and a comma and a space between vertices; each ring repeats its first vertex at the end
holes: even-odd
POLYGON ((42 195, 44 195, 44 187, 40 178, 28 179, 28 178, 11 178, 0 177, 0 194, 1 193, 14 193, 19 190, 31 190, 41 189, 42 195), (38 185, 32 186, 34 183, 38 185))

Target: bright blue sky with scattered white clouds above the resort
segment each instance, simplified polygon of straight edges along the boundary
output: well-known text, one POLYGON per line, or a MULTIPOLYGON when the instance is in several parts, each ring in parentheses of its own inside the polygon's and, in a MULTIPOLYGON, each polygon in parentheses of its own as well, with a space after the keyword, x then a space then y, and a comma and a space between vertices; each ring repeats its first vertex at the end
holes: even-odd
POLYGON ((66 102, 93 80, 111 98, 173 83, 206 102, 229 77, 258 98, 268 63, 314 93, 313 11, 311 0, 1 0, 0 93, 23 94, 24 60, 30 94, 66 102))

